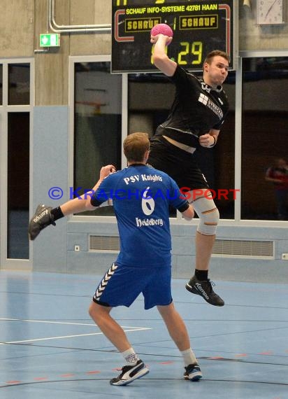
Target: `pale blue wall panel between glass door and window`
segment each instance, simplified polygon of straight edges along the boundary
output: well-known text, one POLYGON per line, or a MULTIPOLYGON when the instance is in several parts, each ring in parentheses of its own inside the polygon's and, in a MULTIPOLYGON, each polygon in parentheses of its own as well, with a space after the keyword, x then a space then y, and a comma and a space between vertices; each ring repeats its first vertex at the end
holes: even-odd
MULTIPOLYGON (((69 199, 68 190, 68 115, 67 106, 36 106, 33 136, 33 209, 38 204, 57 207, 69 199), (62 188, 64 197, 51 200, 52 187, 62 188)), ((34 212, 33 212, 34 213, 34 212)), ((33 269, 46 272, 67 271, 67 220, 45 230, 32 244, 33 269)))

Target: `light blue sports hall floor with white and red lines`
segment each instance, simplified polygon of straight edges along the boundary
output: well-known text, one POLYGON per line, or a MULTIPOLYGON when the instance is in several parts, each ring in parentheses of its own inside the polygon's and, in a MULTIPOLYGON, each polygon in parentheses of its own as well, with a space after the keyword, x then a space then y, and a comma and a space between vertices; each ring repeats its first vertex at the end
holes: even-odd
POLYGON ((113 316, 150 373, 110 386, 122 356, 87 314, 101 276, 0 272, 0 398, 288 398, 288 285, 217 282, 224 307, 173 280, 203 379, 182 379, 178 349, 141 297, 113 316))

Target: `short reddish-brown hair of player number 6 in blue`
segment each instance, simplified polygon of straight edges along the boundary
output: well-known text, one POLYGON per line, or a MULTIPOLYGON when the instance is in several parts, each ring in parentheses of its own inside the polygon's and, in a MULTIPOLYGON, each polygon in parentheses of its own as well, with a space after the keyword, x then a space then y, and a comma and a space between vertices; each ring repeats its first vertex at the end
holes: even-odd
POLYGON ((128 162, 143 162, 145 152, 149 151, 149 148, 149 136, 142 132, 129 134, 123 143, 124 155, 128 162))

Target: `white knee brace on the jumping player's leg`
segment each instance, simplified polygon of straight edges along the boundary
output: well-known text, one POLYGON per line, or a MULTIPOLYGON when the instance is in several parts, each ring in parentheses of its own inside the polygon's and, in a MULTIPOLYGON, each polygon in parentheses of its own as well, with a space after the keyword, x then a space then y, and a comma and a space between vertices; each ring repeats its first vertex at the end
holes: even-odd
POLYGON ((199 216, 197 231, 203 235, 215 235, 219 222, 219 211, 212 197, 199 197, 193 201, 193 207, 199 216))

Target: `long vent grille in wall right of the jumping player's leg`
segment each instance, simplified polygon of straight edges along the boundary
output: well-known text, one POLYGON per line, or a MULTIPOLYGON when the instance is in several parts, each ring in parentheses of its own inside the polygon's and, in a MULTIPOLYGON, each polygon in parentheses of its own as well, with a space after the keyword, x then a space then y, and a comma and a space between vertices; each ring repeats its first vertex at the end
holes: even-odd
POLYGON ((266 256, 273 257, 273 241, 243 241, 216 239, 213 246, 215 255, 266 256))

